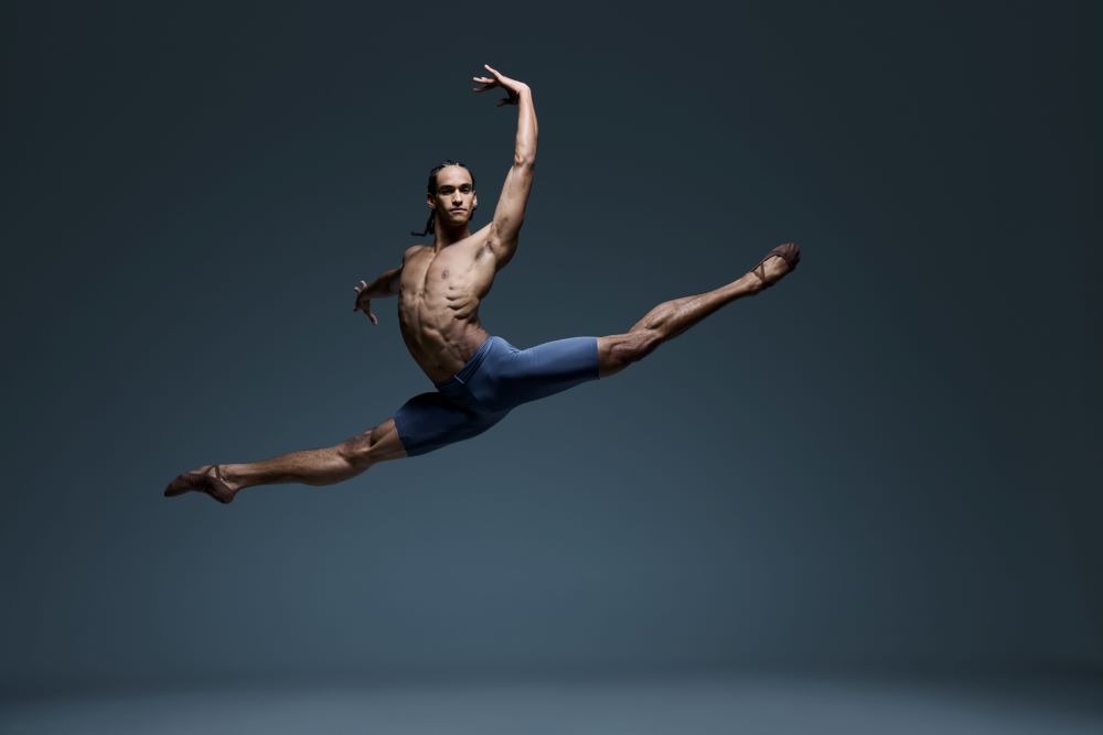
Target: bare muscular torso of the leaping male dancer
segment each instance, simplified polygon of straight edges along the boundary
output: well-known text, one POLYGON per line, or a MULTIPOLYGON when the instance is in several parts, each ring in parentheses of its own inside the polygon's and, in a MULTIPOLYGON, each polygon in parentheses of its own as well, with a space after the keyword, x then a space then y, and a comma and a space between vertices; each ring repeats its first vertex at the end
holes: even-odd
POLYGON ((435 252, 416 246, 403 258, 398 324, 410 355, 433 382, 462 368, 490 333, 479 304, 496 271, 488 228, 435 252))

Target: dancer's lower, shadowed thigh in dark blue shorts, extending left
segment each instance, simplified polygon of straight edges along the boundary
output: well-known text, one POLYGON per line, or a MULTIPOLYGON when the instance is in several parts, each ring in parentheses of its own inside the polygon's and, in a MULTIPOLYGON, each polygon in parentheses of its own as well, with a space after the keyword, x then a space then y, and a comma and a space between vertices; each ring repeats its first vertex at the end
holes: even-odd
POLYGON ((506 413, 473 411, 432 392, 406 401, 395 411, 394 422, 406 455, 413 457, 478 436, 506 413))

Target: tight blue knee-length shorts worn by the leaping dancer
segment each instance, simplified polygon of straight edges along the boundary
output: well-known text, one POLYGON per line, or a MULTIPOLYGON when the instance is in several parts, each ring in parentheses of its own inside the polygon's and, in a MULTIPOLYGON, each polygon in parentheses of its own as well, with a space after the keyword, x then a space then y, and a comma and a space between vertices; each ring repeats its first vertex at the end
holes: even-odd
POLYGON ((570 337, 517 349, 489 337, 437 392, 420 393, 395 412, 407 456, 483 433, 514 408, 598 379, 598 338, 570 337))

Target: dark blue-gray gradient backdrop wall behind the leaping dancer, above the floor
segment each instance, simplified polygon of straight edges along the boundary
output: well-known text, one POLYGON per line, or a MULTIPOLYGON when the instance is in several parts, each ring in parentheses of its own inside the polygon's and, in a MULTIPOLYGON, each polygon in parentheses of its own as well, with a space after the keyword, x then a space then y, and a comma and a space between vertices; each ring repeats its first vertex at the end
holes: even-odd
POLYGON ((1099 672, 1099 17, 882 4, 6 3, 4 690, 1099 672), (469 442, 162 498, 430 388, 352 287, 439 160, 493 210, 483 62, 540 125, 492 334, 800 269, 469 442))

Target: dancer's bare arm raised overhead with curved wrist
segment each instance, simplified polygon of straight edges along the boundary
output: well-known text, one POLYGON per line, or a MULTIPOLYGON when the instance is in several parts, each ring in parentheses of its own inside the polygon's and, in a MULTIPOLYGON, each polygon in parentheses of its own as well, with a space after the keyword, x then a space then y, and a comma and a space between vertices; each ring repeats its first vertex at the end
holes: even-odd
POLYGON ((510 262, 517 249, 521 225, 525 220, 525 205, 533 188, 533 170, 536 165, 536 110, 533 107, 533 93, 527 84, 503 76, 490 66, 486 66, 486 69, 494 76, 474 77, 475 82, 482 82, 484 85, 475 91, 502 87, 510 96, 500 99, 499 106, 517 106, 517 140, 513 151, 513 166, 505 175, 505 184, 502 186, 502 195, 497 199, 488 237, 488 246, 494 253, 497 268, 501 269, 510 262))

